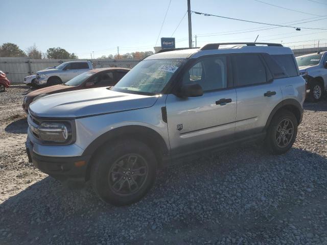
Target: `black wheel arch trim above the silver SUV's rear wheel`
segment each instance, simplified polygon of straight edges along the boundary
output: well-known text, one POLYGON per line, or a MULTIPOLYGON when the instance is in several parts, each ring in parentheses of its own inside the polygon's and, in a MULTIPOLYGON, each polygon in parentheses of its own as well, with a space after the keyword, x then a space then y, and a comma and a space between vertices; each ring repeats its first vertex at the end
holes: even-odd
POLYGON ((302 116, 303 116, 302 106, 300 105, 300 103, 298 101, 296 101, 294 99, 287 99, 287 100, 284 100, 284 101, 278 103, 275 106, 275 108, 271 111, 271 113, 267 119, 266 126, 264 128, 265 130, 268 129, 270 122, 271 122, 272 118, 274 117, 274 115, 283 109, 286 109, 295 115, 298 125, 301 123, 302 116))

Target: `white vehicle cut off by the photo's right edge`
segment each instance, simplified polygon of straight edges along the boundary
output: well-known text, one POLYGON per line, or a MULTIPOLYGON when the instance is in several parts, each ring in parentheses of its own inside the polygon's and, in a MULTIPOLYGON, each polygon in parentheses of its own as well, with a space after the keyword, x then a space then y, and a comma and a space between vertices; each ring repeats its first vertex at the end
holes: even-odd
POLYGON ((321 100, 327 89, 327 51, 296 57, 300 75, 307 82, 307 93, 312 102, 321 100))

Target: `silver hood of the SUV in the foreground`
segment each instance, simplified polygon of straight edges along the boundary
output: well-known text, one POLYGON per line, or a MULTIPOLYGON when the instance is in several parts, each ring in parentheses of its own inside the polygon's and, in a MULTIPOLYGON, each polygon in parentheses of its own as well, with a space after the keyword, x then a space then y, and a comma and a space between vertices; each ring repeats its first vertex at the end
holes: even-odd
POLYGON ((157 99, 158 95, 89 88, 42 97, 30 105, 30 111, 39 117, 83 117, 151 107, 157 99))

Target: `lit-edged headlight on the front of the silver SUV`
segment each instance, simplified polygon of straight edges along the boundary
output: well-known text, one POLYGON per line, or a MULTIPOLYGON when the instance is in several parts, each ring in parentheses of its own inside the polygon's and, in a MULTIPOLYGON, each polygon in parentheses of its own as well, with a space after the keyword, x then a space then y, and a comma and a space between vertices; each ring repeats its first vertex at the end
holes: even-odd
POLYGON ((39 138, 50 143, 67 143, 72 139, 72 128, 66 122, 42 122, 38 127, 39 138))

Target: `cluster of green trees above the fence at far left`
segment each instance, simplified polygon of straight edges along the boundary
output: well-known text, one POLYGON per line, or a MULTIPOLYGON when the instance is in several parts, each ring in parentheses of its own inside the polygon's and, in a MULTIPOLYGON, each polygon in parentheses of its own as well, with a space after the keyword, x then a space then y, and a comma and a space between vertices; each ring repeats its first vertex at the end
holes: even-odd
POLYGON ((61 47, 51 47, 42 55, 42 52, 38 50, 35 43, 24 51, 21 50, 17 44, 11 42, 4 43, 0 46, 0 57, 29 57, 31 59, 78 59, 74 53, 68 53, 61 47))

